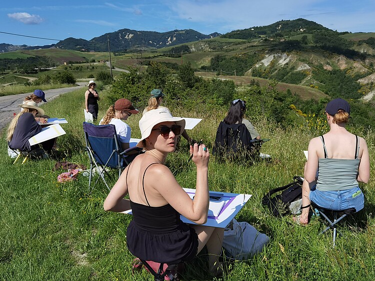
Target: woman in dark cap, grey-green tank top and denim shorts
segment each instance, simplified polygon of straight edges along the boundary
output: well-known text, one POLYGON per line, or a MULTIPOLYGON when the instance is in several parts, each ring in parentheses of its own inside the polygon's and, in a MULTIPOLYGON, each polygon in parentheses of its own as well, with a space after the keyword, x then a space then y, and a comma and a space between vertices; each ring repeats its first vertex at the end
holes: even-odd
POLYGON ((346 100, 330 101, 325 108, 329 132, 313 138, 308 145, 302 214, 297 217, 300 224, 308 223, 311 201, 335 211, 355 208, 358 212, 363 208, 364 196, 358 182, 367 183, 370 177, 368 149, 363 138, 345 129, 349 114, 346 100))

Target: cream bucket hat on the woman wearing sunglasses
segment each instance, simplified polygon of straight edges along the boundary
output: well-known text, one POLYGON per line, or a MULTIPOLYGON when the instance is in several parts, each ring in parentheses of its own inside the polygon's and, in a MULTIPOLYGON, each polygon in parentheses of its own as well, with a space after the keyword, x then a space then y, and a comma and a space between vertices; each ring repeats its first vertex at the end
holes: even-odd
POLYGON ((179 117, 173 117, 170 111, 165 108, 156 108, 144 113, 142 118, 139 120, 139 129, 141 133, 140 141, 136 144, 137 147, 143 147, 143 140, 149 137, 152 128, 162 122, 175 122, 176 125, 181 126, 180 134, 185 129, 185 119, 179 117))

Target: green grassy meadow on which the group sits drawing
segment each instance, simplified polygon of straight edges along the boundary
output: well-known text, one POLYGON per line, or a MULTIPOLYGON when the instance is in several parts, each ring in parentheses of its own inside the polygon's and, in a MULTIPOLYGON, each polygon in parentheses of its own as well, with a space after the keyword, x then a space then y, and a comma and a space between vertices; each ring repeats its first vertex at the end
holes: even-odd
MULTIPOLYGON (((105 91, 100 93, 99 118, 109 105, 105 91)), ((43 107, 49 116, 68 121, 62 125, 66 135, 57 140, 60 160, 88 165, 82 132, 83 104, 83 91, 77 90, 43 107)), ((189 135, 212 147, 217 125, 225 112, 170 109, 175 116, 203 118, 189 135)), ((302 175, 302 150, 316 132, 308 128, 281 129, 261 117, 251 117, 260 135, 271 139, 261 151, 270 154, 272 161, 246 166, 218 163, 211 157, 209 187, 214 191, 252 194, 236 218, 266 233, 270 243, 254 258, 230 264, 222 280, 372 281, 375 278, 373 182, 362 185, 365 208, 341 228, 343 237, 337 238, 332 249, 331 233, 319 235, 322 224, 317 218, 313 217, 307 227, 301 227, 292 223, 291 217, 272 217, 260 203, 269 189, 302 175)), ((140 137, 139 119, 140 114, 127 120, 132 137, 140 137)), ((372 133, 364 137, 373 178, 375 139, 372 133)), ((103 184, 87 195, 88 179, 81 174, 74 182, 57 183, 57 175, 63 171, 53 171, 56 160, 12 165, 13 160, 6 156, 4 135, 0 149, 0 280, 153 280, 145 271, 132 274, 134 257, 126 248, 126 226, 131 217, 103 211, 107 194, 103 184)), ((193 188, 195 167, 192 162, 187 163, 188 156, 187 143, 181 139, 166 164, 183 187, 193 188)), ((115 173, 112 176, 108 178, 110 185, 116 180, 115 173)), ((189 264, 181 279, 214 280, 207 275, 205 258, 203 254, 189 264)))

